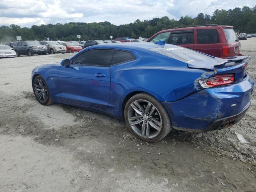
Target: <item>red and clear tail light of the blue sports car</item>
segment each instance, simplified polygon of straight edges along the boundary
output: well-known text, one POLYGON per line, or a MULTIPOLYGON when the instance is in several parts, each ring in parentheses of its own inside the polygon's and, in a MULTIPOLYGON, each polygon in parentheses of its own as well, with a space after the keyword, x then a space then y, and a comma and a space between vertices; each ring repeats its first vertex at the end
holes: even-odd
POLYGON ((208 79, 201 79, 198 82, 200 83, 202 88, 210 88, 223 86, 234 83, 235 75, 234 74, 223 74, 216 75, 214 77, 208 79))

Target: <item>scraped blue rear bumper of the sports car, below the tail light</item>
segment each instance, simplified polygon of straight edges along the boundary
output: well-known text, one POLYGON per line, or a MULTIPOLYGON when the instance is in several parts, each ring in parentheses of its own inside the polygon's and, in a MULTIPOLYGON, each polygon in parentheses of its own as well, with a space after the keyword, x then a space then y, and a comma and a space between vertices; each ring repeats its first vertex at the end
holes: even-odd
POLYGON ((254 87, 247 76, 230 86, 203 89, 176 102, 162 102, 172 127, 191 132, 207 132, 239 122, 250 107, 254 87))

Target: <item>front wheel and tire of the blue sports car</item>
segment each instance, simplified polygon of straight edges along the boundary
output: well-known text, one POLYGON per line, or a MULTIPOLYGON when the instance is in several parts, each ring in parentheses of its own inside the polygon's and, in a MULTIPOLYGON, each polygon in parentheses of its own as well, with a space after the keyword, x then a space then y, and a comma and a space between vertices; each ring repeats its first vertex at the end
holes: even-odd
POLYGON ((49 92, 49 88, 42 78, 42 76, 36 76, 33 80, 33 91, 36 97, 36 100, 42 105, 51 105, 53 101, 49 92))

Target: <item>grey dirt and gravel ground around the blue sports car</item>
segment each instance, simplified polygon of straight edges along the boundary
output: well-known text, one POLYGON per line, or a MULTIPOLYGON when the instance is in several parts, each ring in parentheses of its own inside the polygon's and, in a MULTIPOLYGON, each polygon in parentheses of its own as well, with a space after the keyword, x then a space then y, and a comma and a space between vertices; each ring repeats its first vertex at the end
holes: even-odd
MULTIPOLYGON (((256 38, 241 44, 255 81, 256 38)), ((146 144, 109 116, 36 101, 32 69, 71 55, 0 59, 1 192, 256 191, 255 91, 231 128, 173 131, 146 144), (253 144, 241 144, 235 132, 253 144)))

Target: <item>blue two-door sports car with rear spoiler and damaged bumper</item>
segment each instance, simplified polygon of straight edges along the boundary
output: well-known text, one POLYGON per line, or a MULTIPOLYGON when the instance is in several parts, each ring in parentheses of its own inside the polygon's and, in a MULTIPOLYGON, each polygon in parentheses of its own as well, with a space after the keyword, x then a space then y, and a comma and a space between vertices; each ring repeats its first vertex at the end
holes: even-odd
POLYGON ((40 104, 125 119, 135 136, 156 142, 172 129, 206 132, 238 122, 254 87, 245 58, 162 43, 100 44, 34 68, 32 86, 40 104))

